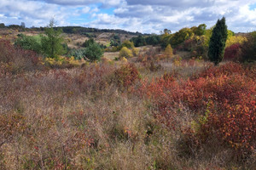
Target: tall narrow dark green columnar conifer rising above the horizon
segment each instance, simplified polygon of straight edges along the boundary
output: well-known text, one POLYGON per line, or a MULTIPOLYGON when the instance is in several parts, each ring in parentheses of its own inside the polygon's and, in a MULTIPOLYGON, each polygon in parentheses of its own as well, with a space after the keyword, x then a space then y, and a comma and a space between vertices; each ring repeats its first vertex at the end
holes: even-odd
POLYGON ((224 57, 224 48, 228 37, 228 29, 225 22, 225 18, 223 17, 221 20, 217 21, 216 26, 212 30, 208 57, 214 65, 218 65, 224 57))

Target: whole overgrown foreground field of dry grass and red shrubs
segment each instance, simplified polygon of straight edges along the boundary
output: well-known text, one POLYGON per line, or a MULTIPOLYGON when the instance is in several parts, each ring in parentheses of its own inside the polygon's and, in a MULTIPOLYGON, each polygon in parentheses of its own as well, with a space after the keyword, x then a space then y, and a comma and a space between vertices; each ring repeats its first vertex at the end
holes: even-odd
POLYGON ((256 168, 255 64, 0 47, 0 169, 256 168))

